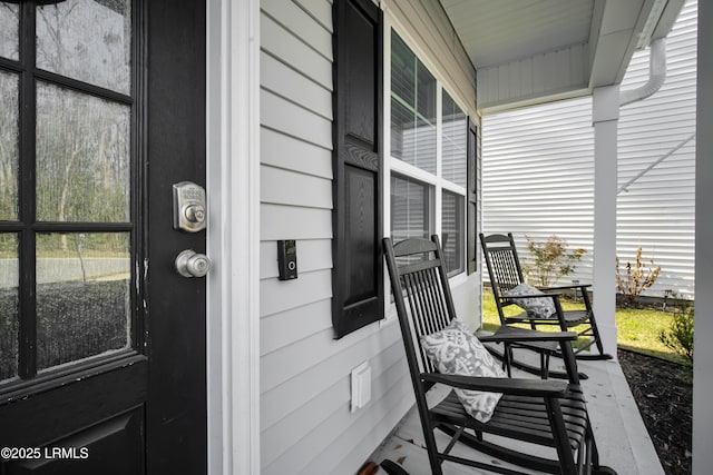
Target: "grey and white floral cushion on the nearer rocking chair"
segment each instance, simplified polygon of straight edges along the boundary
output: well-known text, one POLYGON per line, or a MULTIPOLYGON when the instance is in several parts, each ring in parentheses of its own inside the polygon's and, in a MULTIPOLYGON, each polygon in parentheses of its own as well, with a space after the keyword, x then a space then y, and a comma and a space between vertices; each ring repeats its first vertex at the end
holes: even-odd
MULTIPOLYGON (((480 340, 456 319, 440 331, 421 337, 421 346, 436 368, 446 375, 506 377, 480 340)), ((455 388, 466 412, 487 423, 502 394, 455 388)))

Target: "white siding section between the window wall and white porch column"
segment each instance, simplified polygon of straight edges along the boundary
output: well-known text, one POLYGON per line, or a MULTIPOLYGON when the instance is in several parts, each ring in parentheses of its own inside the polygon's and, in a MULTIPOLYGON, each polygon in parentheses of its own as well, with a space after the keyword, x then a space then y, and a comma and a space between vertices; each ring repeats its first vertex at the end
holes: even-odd
POLYGON ((570 248, 589 249, 560 284, 592 281, 590 98, 486 116, 482 122, 484 232, 512 232, 524 261, 526 236, 545 240, 556 234, 570 248))

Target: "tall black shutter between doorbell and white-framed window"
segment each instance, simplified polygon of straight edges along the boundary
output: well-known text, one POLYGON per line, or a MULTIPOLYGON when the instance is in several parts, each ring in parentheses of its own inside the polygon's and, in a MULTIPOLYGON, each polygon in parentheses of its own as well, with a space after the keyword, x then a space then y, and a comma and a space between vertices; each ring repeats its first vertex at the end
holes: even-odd
POLYGON ((332 324, 336 338, 383 318, 382 31, 371 0, 333 7, 332 324))

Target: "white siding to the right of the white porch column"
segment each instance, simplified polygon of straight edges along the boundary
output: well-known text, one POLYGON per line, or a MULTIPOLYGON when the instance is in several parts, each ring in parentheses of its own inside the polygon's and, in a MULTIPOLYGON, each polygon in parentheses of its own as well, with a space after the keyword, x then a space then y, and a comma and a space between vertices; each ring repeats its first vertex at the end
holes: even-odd
MULTIPOLYGON (((660 91, 622 108, 618 187, 695 132, 696 1, 686 1, 666 39, 667 73, 660 91)), ((622 89, 648 77, 648 51, 634 55, 622 89)), ((617 187, 617 188, 618 188, 617 187)), ((642 246, 645 264, 662 271, 647 293, 672 289, 693 297, 695 229, 695 139, 627 187, 617 197, 617 255, 634 261, 642 246)))

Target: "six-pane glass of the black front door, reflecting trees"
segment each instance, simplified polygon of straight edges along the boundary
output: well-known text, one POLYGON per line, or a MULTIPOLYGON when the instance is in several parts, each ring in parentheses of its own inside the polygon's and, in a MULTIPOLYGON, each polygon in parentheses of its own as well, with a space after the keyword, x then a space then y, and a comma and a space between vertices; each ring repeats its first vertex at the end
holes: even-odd
MULTIPOLYGON (((0 2, 0 56, 19 59, 19 11, 0 2)), ((130 0, 64 0, 35 10, 37 67, 130 93, 130 0)), ((130 196, 130 106, 32 78, 36 86, 36 215, 39 221, 126 222, 130 196)), ((47 75, 39 75, 45 76, 47 75)), ((17 220, 18 75, 0 69, 0 220, 17 220)), ((22 109, 28 117, 32 110, 22 109)), ((32 191, 26 190, 26 191, 32 191)), ((31 208, 23 205, 28 211, 31 208)), ((130 234, 37 234, 40 369, 126 348, 130 329, 130 234), (77 270, 78 269, 78 270, 77 270)), ((0 380, 17 375, 18 235, 0 234, 0 380), (6 265, 10 263, 9 266, 6 265), (14 267, 12 267, 12 264, 14 267)))

